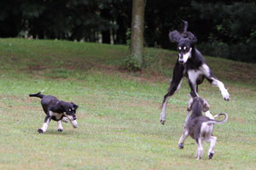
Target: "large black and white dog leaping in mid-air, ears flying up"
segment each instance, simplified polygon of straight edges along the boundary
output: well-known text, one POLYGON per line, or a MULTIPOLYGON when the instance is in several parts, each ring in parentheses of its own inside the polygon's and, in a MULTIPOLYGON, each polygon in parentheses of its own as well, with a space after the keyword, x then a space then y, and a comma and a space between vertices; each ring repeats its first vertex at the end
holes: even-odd
POLYGON ((191 88, 190 95, 192 97, 199 97, 198 85, 203 82, 204 78, 207 78, 208 82, 212 85, 218 86, 224 100, 230 100, 230 94, 224 87, 224 83, 218 81, 216 77, 213 77, 212 71, 206 64, 202 54, 195 48, 196 37, 191 32, 187 31, 188 22, 184 21, 183 33, 178 31, 171 31, 169 38, 171 42, 177 42, 178 59, 174 66, 173 75, 171 79, 171 85, 168 89, 168 93, 164 96, 162 103, 162 111, 160 114, 160 122, 165 124, 166 122, 166 105, 170 97, 177 92, 181 87, 183 77, 189 78, 189 87, 191 88))

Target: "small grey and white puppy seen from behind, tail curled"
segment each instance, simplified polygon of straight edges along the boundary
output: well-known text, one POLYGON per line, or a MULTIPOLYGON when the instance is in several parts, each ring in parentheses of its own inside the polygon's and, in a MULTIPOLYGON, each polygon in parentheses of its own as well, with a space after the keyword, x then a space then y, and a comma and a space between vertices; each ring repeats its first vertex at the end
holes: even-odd
MULTIPOLYGON (((225 113, 219 113, 214 116, 224 115, 225 118, 223 121, 215 121, 207 116, 202 116, 202 111, 209 111, 210 105, 207 103, 205 99, 201 99, 199 97, 191 98, 189 100, 188 111, 192 112, 188 114, 188 121, 185 122, 185 127, 183 131, 183 135, 178 141, 178 148, 183 149, 184 140, 190 135, 193 139, 195 139, 197 147, 197 159, 201 159, 203 156, 203 141, 210 143, 210 148, 208 151, 208 158, 212 159, 214 155, 214 147, 217 141, 217 137, 212 136, 213 125, 214 124, 222 124, 228 120, 228 115, 225 113)), ((212 116, 213 118, 213 116, 212 116)))

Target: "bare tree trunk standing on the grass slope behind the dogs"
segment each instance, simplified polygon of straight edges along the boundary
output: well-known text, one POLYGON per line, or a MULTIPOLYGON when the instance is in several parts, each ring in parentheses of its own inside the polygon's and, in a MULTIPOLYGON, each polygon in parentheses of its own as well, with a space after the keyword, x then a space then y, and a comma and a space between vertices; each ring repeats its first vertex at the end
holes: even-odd
POLYGON ((143 64, 144 1, 132 0, 131 57, 137 69, 143 64))

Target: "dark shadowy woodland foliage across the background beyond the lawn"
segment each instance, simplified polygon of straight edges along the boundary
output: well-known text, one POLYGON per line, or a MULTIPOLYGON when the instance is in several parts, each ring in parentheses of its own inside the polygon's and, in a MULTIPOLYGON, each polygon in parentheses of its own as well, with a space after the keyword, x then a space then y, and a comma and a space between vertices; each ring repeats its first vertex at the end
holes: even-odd
MULTIPOLYGON (((131 0, 0 1, 0 37, 130 42, 131 0), (129 38, 129 37, 128 37, 129 38)), ((144 45, 176 48, 168 32, 189 31, 204 54, 256 62, 256 3, 253 0, 147 0, 144 45)))

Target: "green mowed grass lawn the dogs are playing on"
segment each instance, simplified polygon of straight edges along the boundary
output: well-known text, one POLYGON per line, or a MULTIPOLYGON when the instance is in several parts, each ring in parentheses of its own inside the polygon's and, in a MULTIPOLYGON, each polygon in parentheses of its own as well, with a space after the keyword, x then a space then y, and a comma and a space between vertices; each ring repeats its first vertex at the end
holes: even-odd
POLYGON ((206 57, 231 100, 207 81, 200 86, 212 113, 226 112, 229 120, 215 126, 213 159, 204 144, 196 161, 193 139, 177 148, 186 80, 160 124, 176 52, 145 49, 157 64, 138 73, 120 68, 128 54, 127 46, 0 39, 0 169, 256 169, 256 65, 206 57), (46 133, 37 132, 45 115, 40 99, 28 94, 42 90, 79 105, 79 128, 63 123, 59 133, 52 121, 46 133))

